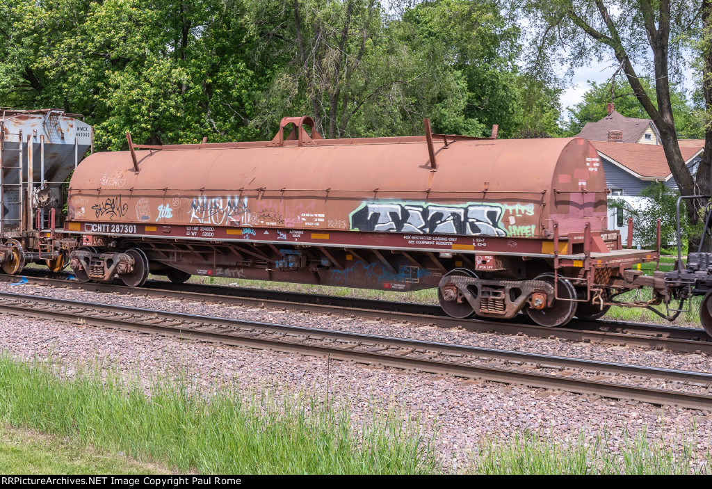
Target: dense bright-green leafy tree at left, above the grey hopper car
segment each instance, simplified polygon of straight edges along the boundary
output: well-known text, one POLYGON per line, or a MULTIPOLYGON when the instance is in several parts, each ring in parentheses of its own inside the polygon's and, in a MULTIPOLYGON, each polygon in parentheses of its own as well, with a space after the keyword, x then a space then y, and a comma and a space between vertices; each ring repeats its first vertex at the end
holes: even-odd
POLYGON ((60 107, 98 149, 235 140, 270 63, 253 65, 238 0, 17 0, 0 9, 0 105, 60 107))

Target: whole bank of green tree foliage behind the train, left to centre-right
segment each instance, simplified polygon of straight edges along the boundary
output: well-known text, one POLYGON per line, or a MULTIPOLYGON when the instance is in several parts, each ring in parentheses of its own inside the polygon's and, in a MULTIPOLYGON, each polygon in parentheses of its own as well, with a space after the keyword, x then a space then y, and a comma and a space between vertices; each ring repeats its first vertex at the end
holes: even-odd
POLYGON ((82 113, 98 149, 326 137, 558 135, 498 0, 0 0, 0 105, 82 113), (384 6, 385 5, 385 6, 384 6))

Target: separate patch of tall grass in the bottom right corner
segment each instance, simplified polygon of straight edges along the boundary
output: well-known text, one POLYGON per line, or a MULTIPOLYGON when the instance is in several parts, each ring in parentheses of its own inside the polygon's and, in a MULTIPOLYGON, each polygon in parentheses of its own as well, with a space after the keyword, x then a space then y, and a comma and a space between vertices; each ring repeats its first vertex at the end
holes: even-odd
POLYGON ((649 441, 645 431, 620 437, 619 451, 609 449, 608 433, 586 438, 583 433, 564 443, 525 432, 510 441, 483 441, 468 472, 476 474, 710 474, 706 460, 710 446, 701 451, 695 436, 675 438, 671 448, 649 441))

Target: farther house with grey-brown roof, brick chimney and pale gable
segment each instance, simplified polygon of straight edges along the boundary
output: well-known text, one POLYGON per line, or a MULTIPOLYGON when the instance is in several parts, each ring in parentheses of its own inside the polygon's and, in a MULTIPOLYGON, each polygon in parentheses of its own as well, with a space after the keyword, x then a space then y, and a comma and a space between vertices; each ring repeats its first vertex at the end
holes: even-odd
POLYGON ((650 119, 624 117, 607 104, 607 115, 597 122, 587 122, 577 137, 590 141, 660 144, 660 134, 650 119))

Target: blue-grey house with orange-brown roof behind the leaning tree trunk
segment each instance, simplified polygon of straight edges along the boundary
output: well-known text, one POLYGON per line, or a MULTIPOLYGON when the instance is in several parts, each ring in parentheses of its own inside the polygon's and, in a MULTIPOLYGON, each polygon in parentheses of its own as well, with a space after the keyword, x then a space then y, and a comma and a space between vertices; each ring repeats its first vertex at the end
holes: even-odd
MULTIPOLYGON (((637 196, 654 182, 664 182, 671 189, 677 188, 661 145, 607 141, 592 141, 592 144, 601 158, 606 186, 611 189, 612 195, 637 196)), ((705 141, 681 140, 679 144, 685 164, 695 174, 705 141)))

